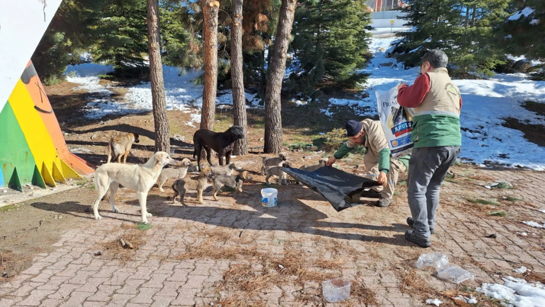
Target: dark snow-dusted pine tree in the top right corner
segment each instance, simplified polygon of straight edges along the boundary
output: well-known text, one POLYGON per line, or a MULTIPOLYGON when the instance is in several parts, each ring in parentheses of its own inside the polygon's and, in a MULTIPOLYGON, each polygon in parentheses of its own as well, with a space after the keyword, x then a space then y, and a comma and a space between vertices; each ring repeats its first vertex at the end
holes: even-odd
POLYGON ((545 61, 545 2, 518 0, 516 4, 516 13, 499 27, 497 43, 511 55, 545 61))

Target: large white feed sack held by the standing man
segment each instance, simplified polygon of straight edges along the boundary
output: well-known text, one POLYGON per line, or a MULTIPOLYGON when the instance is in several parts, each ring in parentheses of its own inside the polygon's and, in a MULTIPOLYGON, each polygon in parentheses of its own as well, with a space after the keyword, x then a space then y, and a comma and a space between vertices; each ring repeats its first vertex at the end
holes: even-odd
POLYGON ((411 132, 413 130, 412 110, 397 103, 397 86, 389 91, 376 91, 378 114, 384 135, 394 158, 413 151, 411 132))

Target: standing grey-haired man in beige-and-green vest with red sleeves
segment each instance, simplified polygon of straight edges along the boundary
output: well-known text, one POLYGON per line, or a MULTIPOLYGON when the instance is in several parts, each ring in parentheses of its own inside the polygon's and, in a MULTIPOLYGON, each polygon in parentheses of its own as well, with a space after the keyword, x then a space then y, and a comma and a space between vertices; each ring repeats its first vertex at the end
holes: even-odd
POLYGON ((439 206, 439 188, 449 167, 460 153, 460 91, 450 79, 446 65, 449 58, 441 50, 429 50, 422 57, 422 74, 414 85, 398 86, 397 102, 414 107, 413 153, 409 160, 407 194, 412 218, 407 224, 413 231, 405 239, 423 248, 435 229, 435 212, 439 206))

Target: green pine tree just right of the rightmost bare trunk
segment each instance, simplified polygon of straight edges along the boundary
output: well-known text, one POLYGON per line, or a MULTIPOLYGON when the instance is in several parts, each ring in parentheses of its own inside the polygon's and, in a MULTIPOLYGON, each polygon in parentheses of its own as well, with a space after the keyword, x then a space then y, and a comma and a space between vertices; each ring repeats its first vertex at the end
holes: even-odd
POLYGON ((307 0, 295 13, 290 47, 294 61, 290 86, 312 92, 322 81, 342 87, 358 87, 367 75, 366 31, 371 14, 364 0, 307 0))

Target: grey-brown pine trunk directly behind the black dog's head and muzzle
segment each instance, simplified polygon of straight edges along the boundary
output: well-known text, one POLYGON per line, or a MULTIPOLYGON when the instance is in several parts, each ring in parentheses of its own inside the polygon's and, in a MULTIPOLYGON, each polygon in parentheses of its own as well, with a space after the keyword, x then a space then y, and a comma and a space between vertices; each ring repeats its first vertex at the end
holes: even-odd
MULTIPOLYGON (((231 30, 231 85, 233 88, 234 124, 242 127, 246 136, 246 96, 244 95, 244 75, 242 57, 242 8, 243 0, 233 1, 233 26, 231 30)), ((235 142, 234 155, 248 153, 247 137, 235 142)))

